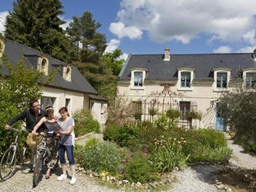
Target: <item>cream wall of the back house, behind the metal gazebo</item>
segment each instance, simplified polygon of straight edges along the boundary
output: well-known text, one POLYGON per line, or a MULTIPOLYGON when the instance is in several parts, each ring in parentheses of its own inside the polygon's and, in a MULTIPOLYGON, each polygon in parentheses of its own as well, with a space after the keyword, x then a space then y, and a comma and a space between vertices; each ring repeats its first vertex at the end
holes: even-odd
MULTIPOLYGON (((229 81, 229 78, 228 78, 229 81)), ((160 86, 160 83, 164 81, 144 81, 144 87, 141 89, 134 90, 130 85, 130 81, 119 81, 118 83, 118 92, 120 95, 124 95, 129 98, 131 101, 143 101, 144 99, 150 100, 150 98, 155 98, 156 94, 163 91, 164 87, 160 86), (155 94, 154 94, 155 93, 155 94), (153 95, 152 95, 153 94, 153 95), (150 96, 152 95, 152 96, 150 96)), ((167 82, 167 81, 166 81, 167 82)), ((168 81, 170 82, 170 81, 168 81)), ((208 127, 215 128, 216 124, 216 102, 221 95, 223 90, 231 90, 232 88, 227 89, 218 89, 216 88, 216 81, 214 82, 192 82, 191 87, 188 89, 180 89, 180 81, 172 81, 175 84, 174 87, 170 87, 170 90, 176 95, 172 96, 172 103, 179 103, 179 101, 191 101, 197 105, 197 111, 203 112, 203 119, 193 120, 193 125, 197 127, 208 127)), ((228 82, 229 83, 229 82, 228 82)), ((167 97, 169 97, 167 95, 167 97)), ((159 98, 161 102, 163 96, 159 98)), ((170 100, 170 99, 169 99, 170 100)), ((166 98, 165 98, 165 101, 166 98)))

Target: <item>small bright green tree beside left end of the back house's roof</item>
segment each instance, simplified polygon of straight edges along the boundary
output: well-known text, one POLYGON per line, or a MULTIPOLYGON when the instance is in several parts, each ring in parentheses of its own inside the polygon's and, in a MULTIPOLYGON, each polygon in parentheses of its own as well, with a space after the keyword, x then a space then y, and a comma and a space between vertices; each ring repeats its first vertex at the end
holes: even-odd
POLYGON ((119 75, 124 63, 124 59, 119 58, 121 54, 122 51, 120 49, 116 49, 113 53, 105 53, 102 56, 102 61, 106 63, 115 76, 119 75))

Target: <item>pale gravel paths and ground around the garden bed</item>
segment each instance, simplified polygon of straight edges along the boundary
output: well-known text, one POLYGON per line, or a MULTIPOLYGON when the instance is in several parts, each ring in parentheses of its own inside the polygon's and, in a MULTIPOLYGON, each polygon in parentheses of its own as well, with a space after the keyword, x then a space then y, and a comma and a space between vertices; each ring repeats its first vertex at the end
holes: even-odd
MULTIPOLYGON (((90 135, 90 137, 93 136, 96 136, 99 140, 102 138, 100 134, 90 135)), ((232 143, 229 136, 227 136, 227 138, 228 145, 233 150, 233 158, 227 166, 256 169, 256 157, 245 154, 239 145, 232 143)), ((80 138, 77 142, 83 144, 86 140, 87 137, 80 138)), ((212 172, 222 169, 224 166, 225 165, 196 165, 175 172, 174 174, 177 177, 177 182, 174 182, 168 191, 218 191, 214 186, 215 177, 212 172)), ((52 174, 49 180, 46 180, 44 177, 37 187, 32 188, 33 174, 18 170, 18 172, 16 172, 8 181, 0 182, 0 191, 127 191, 127 188, 125 187, 110 188, 107 185, 100 185, 95 178, 90 178, 82 173, 77 174, 77 182, 74 185, 71 185, 69 183, 70 179, 57 181, 57 177, 60 174, 61 170, 60 168, 57 168, 56 172, 52 174)), ((132 191, 132 189, 130 190, 132 191)))

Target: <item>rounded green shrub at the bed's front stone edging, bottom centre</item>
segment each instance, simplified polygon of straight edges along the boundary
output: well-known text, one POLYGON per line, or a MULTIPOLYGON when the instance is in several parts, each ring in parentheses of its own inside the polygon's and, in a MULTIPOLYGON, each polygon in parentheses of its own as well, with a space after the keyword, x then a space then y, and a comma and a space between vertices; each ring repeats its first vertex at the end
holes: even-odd
POLYGON ((124 178, 130 182, 145 183, 154 179, 151 164, 142 155, 136 155, 125 165, 124 178))

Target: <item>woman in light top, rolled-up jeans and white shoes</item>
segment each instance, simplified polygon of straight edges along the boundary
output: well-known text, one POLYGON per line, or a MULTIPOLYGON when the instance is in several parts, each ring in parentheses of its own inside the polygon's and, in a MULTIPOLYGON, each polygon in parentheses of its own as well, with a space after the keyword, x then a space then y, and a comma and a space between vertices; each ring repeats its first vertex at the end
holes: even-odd
POLYGON ((66 173, 66 161, 65 161, 65 151, 67 152, 72 179, 70 184, 75 184, 76 182, 76 172, 75 172, 75 160, 74 160, 74 119, 69 117, 68 109, 60 108, 59 113, 61 117, 58 119, 58 123, 61 127, 61 131, 55 131, 56 134, 60 135, 60 143, 58 148, 59 160, 61 164, 62 174, 57 178, 58 181, 67 178, 66 173))

